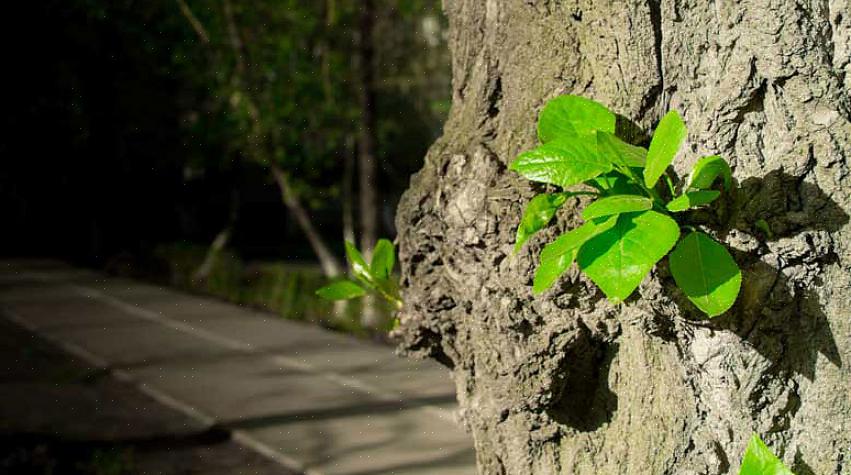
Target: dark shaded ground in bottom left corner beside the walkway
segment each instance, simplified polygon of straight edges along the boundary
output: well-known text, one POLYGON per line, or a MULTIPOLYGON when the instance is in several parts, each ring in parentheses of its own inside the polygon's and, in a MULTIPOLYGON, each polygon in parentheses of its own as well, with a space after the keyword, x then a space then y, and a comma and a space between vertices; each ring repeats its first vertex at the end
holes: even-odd
POLYGON ((0 319, 0 473, 300 475, 0 319))

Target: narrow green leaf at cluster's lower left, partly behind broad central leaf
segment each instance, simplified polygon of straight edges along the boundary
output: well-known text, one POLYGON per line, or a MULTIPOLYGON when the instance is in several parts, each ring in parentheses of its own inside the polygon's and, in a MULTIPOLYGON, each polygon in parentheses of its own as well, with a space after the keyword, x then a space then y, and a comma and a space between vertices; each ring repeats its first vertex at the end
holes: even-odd
POLYGON ((558 280, 576 259, 576 253, 585 241, 610 229, 617 222, 617 216, 588 221, 576 229, 559 236, 547 244, 541 251, 541 264, 535 271, 532 281, 532 292, 539 294, 558 280))

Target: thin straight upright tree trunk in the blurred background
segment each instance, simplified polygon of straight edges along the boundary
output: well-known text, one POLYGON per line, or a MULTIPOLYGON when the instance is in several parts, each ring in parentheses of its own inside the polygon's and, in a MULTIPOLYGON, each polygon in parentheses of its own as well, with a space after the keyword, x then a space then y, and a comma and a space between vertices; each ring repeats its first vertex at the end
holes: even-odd
MULTIPOLYGON (((359 75, 358 104, 358 193, 360 196, 360 250, 369 261, 378 235, 378 188, 375 157, 375 78, 373 29, 375 26, 373 0, 361 0, 360 23, 357 34, 357 71, 359 75)), ((362 299, 363 323, 374 327, 378 320, 371 296, 362 299)))

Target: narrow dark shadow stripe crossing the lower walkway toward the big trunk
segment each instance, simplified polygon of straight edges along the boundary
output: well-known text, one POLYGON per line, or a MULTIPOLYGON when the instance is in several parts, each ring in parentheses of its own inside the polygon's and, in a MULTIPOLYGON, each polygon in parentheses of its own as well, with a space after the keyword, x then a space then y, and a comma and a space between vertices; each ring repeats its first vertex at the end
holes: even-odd
POLYGON ((340 407, 293 411, 286 414, 239 419, 235 421, 227 421, 223 423, 223 425, 231 429, 262 429, 264 427, 290 424, 299 421, 321 421, 397 412, 406 409, 416 409, 440 404, 454 404, 455 401, 455 394, 408 398, 404 401, 369 401, 362 404, 350 404, 340 407))

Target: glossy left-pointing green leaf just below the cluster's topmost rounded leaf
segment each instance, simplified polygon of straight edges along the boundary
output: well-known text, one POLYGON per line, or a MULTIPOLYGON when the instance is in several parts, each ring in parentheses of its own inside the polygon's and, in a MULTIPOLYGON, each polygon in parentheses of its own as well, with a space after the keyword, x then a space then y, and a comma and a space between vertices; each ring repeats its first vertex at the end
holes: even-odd
POLYGON ((612 163, 597 153, 595 140, 574 137, 520 154, 511 169, 529 180, 567 188, 610 171, 612 163))

